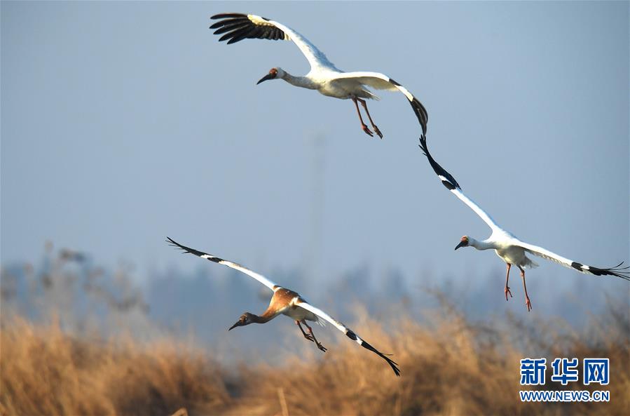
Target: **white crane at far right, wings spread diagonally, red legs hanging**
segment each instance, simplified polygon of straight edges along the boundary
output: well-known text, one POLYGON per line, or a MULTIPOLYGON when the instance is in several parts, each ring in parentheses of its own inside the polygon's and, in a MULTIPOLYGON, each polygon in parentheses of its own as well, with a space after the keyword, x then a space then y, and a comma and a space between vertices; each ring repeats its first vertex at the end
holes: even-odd
POLYGON ((562 264, 565 267, 573 268, 580 273, 586 274, 594 274, 595 276, 617 276, 622 279, 626 279, 630 281, 630 272, 626 271, 629 267, 621 267, 623 262, 617 264, 615 267, 609 268, 600 268, 587 266, 586 264, 582 264, 580 262, 575 262, 561 255, 557 255, 546 248, 542 248, 539 246, 534 246, 530 243, 525 243, 514 236, 514 234, 507 232, 505 229, 502 229, 498 226, 498 224, 492 219, 486 211, 481 209, 474 203, 472 199, 468 198, 463 192, 455 180, 453 175, 448 173, 444 168, 442 168, 436 161, 433 159, 431 154, 429 153, 429 149, 427 147, 427 138, 425 135, 420 137, 420 148, 423 150, 425 156, 433 168, 434 172, 437 174, 442 184, 450 190, 455 196, 458 197, 461 201, 463 201, 467 206, 469 206, 472 210, 474 210, 479 217, 481 217, 486 224, 491 228, 492 234, 488 239, 483 241, 477 241, 475 239, 470 238, 469 236, 463 236, 460 240, 460 243, 455 248, 456 250, 460 247, 474 247, 477 250, 488 250, 493 249, 495 253, 501 257, 501 259, 507 264, 507 274, 505 276, 505 300, 507 300, 507 295, 512 296, 512 293, 509 290, 508 279, 509 279, 509 268, 512 264, 519 267, 521 270, 521 278, 523 279, 523 288, 525 289, 525 297, 526 297, 526 305, 528 311, 531 309, 531 302, 527 295, 527 286, 525 285, 525 270, 528 267, 537 267, 537 264, 533 262, 529 257, 527 257, 526 253, 536 255, 538 257, 545 258, 547 260, 552 260, 553 262, 562 264))

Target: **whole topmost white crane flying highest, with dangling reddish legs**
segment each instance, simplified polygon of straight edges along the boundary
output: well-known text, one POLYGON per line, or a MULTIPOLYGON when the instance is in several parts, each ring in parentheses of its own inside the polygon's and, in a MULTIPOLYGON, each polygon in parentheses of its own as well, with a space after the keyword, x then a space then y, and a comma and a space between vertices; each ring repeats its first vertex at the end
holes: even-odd
POLYGON ((383 138, 381 130, 372 121, 365 99, 376 99, 366 86, 380 90, 400 91, 409 100, 413 113, 416 114, 423 134, 427 132, 428 115, 425 107, 402 85, 379 72, 343 72, 328 60, 308 39, 282 25, 279 22, 262 18, 258 15, 245 15, 242 13, 221 13, 213 15, 211 19, 219 20, 210 26, 215 29, 214 34, 221 34, 219 41, 228 41, 228 44, 242 41, 242 39, 270 39, 293 41, 300 49, 310 64, 310 71, 305 76, 293 76, 280 67, 272 68, 258 83, 268 79, 284 79, 288 83, 301 88, 317 90, 328 97, 342 100, 350 99, 354 102, 361 121, 361 128, 368 135, 373 135, 371 130, 363 122, 359 105, 363 106, 374 132, 383 138))

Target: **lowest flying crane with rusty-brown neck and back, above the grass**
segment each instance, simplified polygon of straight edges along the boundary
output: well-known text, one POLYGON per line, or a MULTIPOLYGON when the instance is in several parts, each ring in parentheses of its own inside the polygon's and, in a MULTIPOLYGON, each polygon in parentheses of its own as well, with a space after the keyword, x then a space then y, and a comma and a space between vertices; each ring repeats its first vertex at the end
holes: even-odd
POLYGON ((243 267, 238 263, 224 260, 208 253, 203 253, 203 251, 195 250, 194 248, 182 246, 182 244, 177 243, 177 241, 174 241, 170 237, 167 237, 166 241, 167 243, 170 243, 171 246, 183 250, 184 253, 191 253, 203 259, 210 260, 211 262, 224 264, 224 266, 241 271, 242 273, 251 276, 252 278, 262 283, 264 286, 267 286, 268 288, 273 290, 273 297, 271 298, 269 307, 265 312, 263 312, 263 314, 257 316, 254 314, 250 314, 249 312, 245 312, 245 314, 242 314, 239 321, 231 326, 230 330, 237 326, 248 325, 249 323, 265 323, 271 321, 271 319, 275 318, 276 316, 283 314, 289 316, 289 318, 294 319, 296 325, 299 326, 304 337, 309 341, 315 342, 315 344, 317 344, 317 347, 325 352, 326 348, 317 341, 315 335, 313 334, 312 328, 310 328, 310 326, 308 326, 308 323, 306 323, 306 321, 313 321, 322 324, 320 320, 323 319, 324 321, 331 323, 335 328, 344 333, 345 336, 350 338, 350 340, 357 342, 357 344, 359 344, 361 347, 368 349, 369 351, 372 351, 374 352, 374 354, 383 358, 385 361, 387 361, 392 370, 394 370, 394 373, 396 375, 400 375, 398 364, 388 357, 388 355, 390 354, 383 354, 381 351, 378 351, 378 349, 368 344, 354 331, 348 328, 348 326, 345 326, 340 321, 337 321, 335 318, 322 311, 322 309, 319 309, 317 307, 314 307, 312 304, 309 304, 308 302, 306 302, 306 300, 303 299, 303 297, 301 297, 293 290, 283 288, 282 286, 273 283, 273 281, 267 279, 265 276, 258 274, 250 269, 247 269, 247 267, 243 267), (308 328, 308 334, 304 332, 301 325, 305 325, 306 328, 308 328))

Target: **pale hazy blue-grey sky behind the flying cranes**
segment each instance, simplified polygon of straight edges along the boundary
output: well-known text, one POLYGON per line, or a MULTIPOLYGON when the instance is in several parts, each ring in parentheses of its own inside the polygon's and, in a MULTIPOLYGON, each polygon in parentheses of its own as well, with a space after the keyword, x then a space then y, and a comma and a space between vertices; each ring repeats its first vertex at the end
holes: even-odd
MULTIPOLYGON (((453 252, 489 230, 435 177, 402 95, 369 103, 381 141, 350 101, 256 86, 308 63, 290 42, 219 43, 209 18, 226 11, 278 20, 337 67, 406 86, 435 159, 519 238, 596 266, 630 260, 628 2, 0 7, 2 264, 39 258, 49 239, 106 265, 199 267, 171 236, 324 283, 363 262, 463 288, 496 274, 500 300, 498 257, 453 252)), ((538 304, 629 290, 538 262, 538 304)))

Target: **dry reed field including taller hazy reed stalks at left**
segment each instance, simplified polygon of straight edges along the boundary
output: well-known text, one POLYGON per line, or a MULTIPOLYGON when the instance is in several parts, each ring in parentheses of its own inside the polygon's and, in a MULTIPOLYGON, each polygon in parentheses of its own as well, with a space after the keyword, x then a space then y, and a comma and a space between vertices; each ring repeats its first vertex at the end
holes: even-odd
MULTIPOLYGON (((153 326, 151 305, 125 269, 107 274, 84 259, 55 260, 52 247, 46 255, 42 267, 27 264, 21 275, 19 269, 2 270, 3 416, 630 415, 625 296, 608 297, 597 315, 576 309, 584 315, 579 329, 561 318, 509 313, 473 321, 438 290, 427 291, 437 302, 423 304, 421 316, 404 302, 390 302, 390 314, 378 318, 355 308, 350 327, 395 354, 402 370, 395 377, 381 358, 334 328, 325 330, 329 351, 322 354, 285 318, 280 320, 287 340, 298 340, 298 349, 273 340, 277 349, 242 361, 212 342, 168 331, 142 337, 153 326), (90 319, 99 310, 104 315, 90 319), (132 325, 120 330, 125 323, 132 325), (271 355, 282 363, 264 359, 271 355), (519 390, 528 387, 519 384, 519 361, 526 357, 545 357, 547 363, 556 357, 610 358, 610 384, 603 388, 610 402, 521 403, 519 390)), ((547 375, 547 384, 538 388, 598 387, 562 387, 547 375)))

